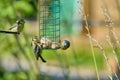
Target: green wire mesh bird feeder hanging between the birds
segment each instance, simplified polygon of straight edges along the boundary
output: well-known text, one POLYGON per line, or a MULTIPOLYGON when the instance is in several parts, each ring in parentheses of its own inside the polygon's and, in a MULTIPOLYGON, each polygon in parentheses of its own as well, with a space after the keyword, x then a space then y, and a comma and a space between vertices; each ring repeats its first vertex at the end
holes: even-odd
POLYGON ((39 0, 39 38, 51 45, 45 49, 60 48, 60 0, 39 0), (50 43, 49 43, 50 42, 50 43))

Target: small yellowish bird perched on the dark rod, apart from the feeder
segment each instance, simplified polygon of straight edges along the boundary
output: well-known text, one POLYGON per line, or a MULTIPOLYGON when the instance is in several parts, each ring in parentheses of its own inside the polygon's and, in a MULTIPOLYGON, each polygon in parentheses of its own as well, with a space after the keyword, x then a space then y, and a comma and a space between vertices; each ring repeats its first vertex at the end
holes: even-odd
POLYGON ((24 28, 24 23, 25 23, 24 19, 19 19, 8 30, 11 31, 11 32, 18 32, 18 33, 20 33, 23 30, 23 28, 24 28))

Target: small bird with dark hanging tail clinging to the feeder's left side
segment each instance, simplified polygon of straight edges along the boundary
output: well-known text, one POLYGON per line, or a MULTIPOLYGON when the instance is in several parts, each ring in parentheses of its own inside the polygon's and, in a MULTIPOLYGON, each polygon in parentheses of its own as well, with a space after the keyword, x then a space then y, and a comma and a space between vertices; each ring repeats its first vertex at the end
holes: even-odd
POLYGON ((42 45, 40 44, 39 40, 38 40, 38 37, 37 36, 34 36, 32 38, 32 42, 31 42, 31 45, 33 47, 33 50, 34 50, 34 54, 35 54, 35 57, 36 59, 38 60, 39 57, 40 59, 43 61, 43 62, 46 62, 45 59, 42 57, 42 45))

